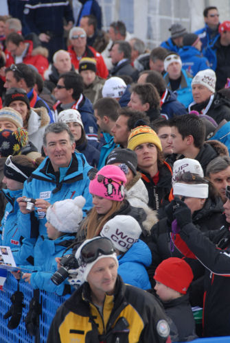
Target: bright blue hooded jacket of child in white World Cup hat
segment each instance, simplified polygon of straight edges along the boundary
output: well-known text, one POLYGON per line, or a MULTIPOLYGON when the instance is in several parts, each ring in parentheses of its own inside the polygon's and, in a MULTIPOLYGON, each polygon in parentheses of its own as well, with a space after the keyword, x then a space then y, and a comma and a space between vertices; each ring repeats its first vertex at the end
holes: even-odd
POLYGON ((146 243, 138 239, 124 255, 119 255, 117 259, 118 274, 122 276, 124 283, 142 289, 151 288, 146 267, 152 263, 152 255, 146 243))

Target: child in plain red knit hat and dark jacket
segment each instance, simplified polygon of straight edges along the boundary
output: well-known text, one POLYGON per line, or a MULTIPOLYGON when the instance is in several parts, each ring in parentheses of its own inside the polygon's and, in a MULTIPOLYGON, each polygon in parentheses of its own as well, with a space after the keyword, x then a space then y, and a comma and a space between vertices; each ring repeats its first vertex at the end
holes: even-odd
POLYGON ((194 275, 183 259, 170 257, 157 267, 154 287, 163 303, 165 313, 170 320, 172 342, 188 342, 197 338, 192 308, 189 304, 187 289, 194 275))

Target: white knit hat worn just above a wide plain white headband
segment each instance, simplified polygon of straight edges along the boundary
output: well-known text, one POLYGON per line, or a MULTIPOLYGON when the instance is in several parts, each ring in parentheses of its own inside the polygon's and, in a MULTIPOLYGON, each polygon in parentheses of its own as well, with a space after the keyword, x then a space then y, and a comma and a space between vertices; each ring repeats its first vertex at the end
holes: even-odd
POLYGON ((183 174, 187 171, 190 173, 198 174, 201 178, 204 177, 204 171, 201 167, 200 163, 193 158, 181 158, 181 160, 177 160, 173 164, 172 169, 172 185, 176 182, 176 176, 179 174, 183 174))

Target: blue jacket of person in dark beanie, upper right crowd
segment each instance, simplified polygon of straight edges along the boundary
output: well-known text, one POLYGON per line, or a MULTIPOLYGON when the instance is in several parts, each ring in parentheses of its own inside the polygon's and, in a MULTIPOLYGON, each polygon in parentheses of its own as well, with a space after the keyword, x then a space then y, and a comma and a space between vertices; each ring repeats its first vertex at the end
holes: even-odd
POLYGON ((194 77, 198 71, 209 68, 209 61, 196 47, 184 46, 179 50, 183 69, 194 77))

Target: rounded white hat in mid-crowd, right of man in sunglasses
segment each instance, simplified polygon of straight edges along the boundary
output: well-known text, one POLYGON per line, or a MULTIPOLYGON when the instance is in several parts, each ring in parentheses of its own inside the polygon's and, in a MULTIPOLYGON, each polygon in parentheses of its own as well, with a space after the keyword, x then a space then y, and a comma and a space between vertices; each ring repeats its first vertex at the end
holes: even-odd
POLYGON ((122 78, 109 78, 102 88, 102 97, 122 97, 126 90, 126 83, 122 78))

